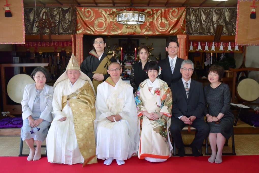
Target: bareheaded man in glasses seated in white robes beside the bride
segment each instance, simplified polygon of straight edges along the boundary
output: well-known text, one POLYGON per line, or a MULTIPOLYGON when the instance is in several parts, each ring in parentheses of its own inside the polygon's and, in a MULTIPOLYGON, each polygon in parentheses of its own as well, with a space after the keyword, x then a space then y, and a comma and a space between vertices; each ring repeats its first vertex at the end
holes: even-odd
POLYGON ((113 159, 122 165, 138 151, 137 110, 133 88, 120 78, 120 64, 112 62, 107 72, 111 77, 98 85, 95 102, 96 156, 106 165, 113 159))

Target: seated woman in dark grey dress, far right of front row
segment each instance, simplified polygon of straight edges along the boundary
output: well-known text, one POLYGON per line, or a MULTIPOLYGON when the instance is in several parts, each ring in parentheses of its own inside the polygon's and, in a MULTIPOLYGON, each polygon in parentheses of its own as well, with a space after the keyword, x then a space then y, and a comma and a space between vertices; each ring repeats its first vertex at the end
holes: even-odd
POLYGON ((222 162, 225 139, 231 136, 234 123, 234 116, 230 110, 229 86, 220 82, 223 74, 224 69, 221 66, 211 66, 208 70, 208 80, 211 84, 204 87, 205 109, 203 113, 210 126, 211 157, 208 161, 211 163, 222 162), (217 153, 216 146, 218 147, 217 153))

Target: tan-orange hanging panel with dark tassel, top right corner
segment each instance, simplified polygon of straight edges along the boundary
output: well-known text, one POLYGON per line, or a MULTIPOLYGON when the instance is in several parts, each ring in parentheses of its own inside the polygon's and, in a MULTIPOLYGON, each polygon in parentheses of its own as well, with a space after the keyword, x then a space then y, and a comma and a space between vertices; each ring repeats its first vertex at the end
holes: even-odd
POLYGON ((255 1, 257 17, 250 18, 253 0, 238 0, 238 15, 236 18, 236 45, 259 45, 259 1, 255 1))

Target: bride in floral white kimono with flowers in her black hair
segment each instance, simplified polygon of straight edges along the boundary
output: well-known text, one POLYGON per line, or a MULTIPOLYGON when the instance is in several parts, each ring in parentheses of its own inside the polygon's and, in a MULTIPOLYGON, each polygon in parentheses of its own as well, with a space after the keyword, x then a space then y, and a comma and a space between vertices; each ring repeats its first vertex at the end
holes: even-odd
POLYGON ((167 83, 157 78, 161 73, 155 61, 147 66, 148 79, 135 92, 140 142, 138 157, 149 162, 163 162, 171 156, 169 127, 172 93, 167 83))

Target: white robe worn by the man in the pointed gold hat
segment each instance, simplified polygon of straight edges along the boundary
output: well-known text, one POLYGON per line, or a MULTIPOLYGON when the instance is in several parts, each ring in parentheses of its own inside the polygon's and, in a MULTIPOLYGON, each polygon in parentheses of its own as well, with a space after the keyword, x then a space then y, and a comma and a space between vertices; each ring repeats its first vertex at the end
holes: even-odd
POLYGON ((55 89, 52 101, 53 121, 46 138, 48 162, 75 164, 83 163, 84 158, 80 153, 74 128, 74 118, 68 104, 63 108, 61 100, 63 95, 69 95, 81 88, 86 81, 78 78, 71 88, 69 79, 59 82, 55 89), (62 111, 61 111, 62 110, 62 111), (60 118, 67 117, 65 121, 60 118))

